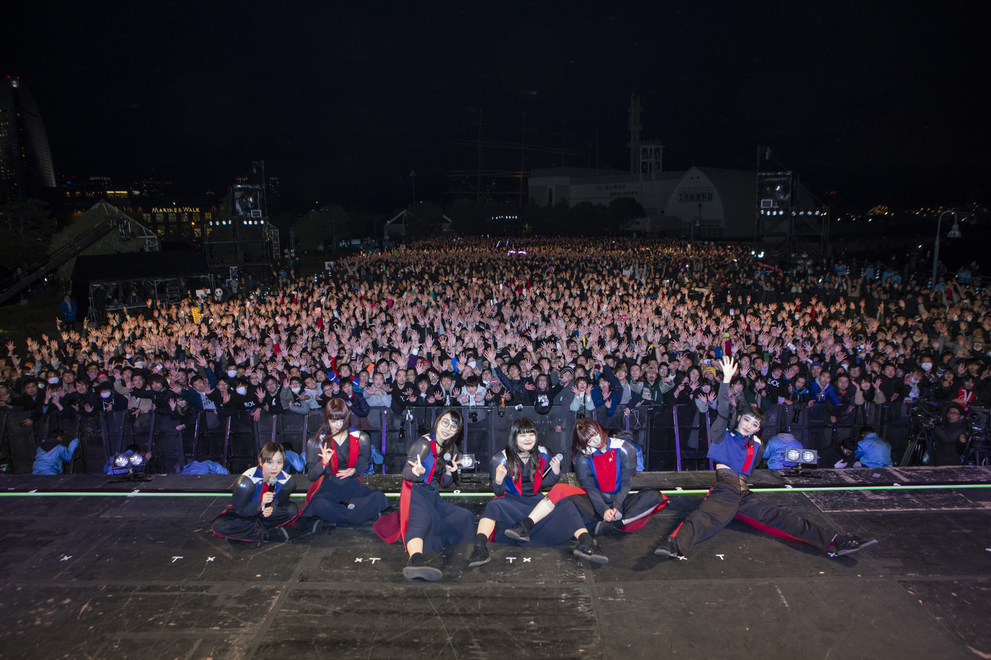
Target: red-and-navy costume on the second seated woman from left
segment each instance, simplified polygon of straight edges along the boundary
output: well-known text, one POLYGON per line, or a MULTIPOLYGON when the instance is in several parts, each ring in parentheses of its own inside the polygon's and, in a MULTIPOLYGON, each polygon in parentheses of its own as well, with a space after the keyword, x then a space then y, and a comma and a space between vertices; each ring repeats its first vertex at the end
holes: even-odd
POLYGON ((360 471, 356 466, 364 468, 372 458, 372 441, 368 433, 349 428, 347 438, 338 443, 329 433, 322 432, 308 444, 311 446, 307 453, 316 460, 307 475, 312 484, 306 493, 306 507, 295 523, 297 527, 308 528, 313 517, 335 524, 358 524, 388 508, 384 493, 370 489, 358 479, 360 471), (334 452, 327 463, 320 457, 320 446, 325 443, 334 452), (351 468, 355 468, 351 477, 337 477, 340 470, 351 468), (348 504, 353 507, 348 508, 348 504))

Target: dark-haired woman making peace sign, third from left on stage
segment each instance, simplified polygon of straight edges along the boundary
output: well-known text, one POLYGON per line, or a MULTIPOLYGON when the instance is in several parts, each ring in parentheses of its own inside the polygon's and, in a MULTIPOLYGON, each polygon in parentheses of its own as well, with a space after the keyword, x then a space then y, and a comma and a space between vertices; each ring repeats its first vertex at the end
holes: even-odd
POLYGON ((402 575, 408 580, 440 580, 440 569, 427 566, 423 553, 472 540, 475 516, 440 497, 440 487, 450 486, 458 469, 462 425, 461 413, 448 409, 434 422, 429 435, 412 443, 402 471, 399 511, 376 521, 375 532, 386 543, 402 538, 409 553, 402 575))

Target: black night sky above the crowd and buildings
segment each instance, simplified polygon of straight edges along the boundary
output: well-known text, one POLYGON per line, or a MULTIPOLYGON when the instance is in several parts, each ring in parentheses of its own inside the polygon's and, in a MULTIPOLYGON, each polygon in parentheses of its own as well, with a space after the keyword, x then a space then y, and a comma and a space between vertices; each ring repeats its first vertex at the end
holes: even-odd
POLYGON ((991 197, 987 2, 17 4, 3 74, 63 174, 202 192, 264 159, 292 210, 385 213, 411 169, 451 201, 480 108, 486 140, 518 141, 525 111, 527 142, 584 154, 567 165, 595 165, 598 131, 626 168, 635 91, 665 169, 753 168, 761 144, 848 209, 991 197))

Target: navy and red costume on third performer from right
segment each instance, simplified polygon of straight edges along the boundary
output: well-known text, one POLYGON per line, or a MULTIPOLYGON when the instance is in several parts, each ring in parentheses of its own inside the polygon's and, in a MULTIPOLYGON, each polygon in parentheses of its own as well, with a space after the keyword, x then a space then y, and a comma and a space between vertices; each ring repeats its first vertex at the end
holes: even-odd
POLYGON ((557 483, 560 475, 555 475, 553 470, 549 470, 548 464, 547 450, 537 447, 529 460, 523 463, 523 469, 515 479, 507 474, 503 482, 498 484, 495 482, 495 471, 500 465, 508 470, 508 460, 504 449, 493 457, 489 474, 495 497, 486 504, 486 510, 482 513, 483 518, 495 520, 495 530, 489 537, 490 541, 527 548, 543 548, 571 539, 576 531, 585 526, 578 509, 568 501, 556 506, 550 514, 533 525, 529 532, 529 541, 517 541, 504 534, 507 528, 525 518, 533 507, 540 503, 544 497, 540 493, 541 489, 557 483))

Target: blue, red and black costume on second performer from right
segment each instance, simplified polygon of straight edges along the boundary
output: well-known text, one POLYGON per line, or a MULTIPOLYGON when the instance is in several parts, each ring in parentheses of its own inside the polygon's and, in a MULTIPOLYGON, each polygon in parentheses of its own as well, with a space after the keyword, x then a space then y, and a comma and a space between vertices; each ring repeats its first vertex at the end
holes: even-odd
POLYGON ((621 517, 616 529, 634 532, 668 505, 668 498, 659 489, 643 489, 629 495, 636 472, 636 449, 628 440, 607 438, 602 446, 589 447, 586 453, 576 456, 572 465, 582 488, 558 484, 547 497, 555 505, 565 500, 575 502, 590 529, 604 520, 606 510, 614 508, 621 517))

